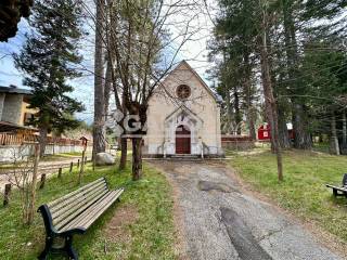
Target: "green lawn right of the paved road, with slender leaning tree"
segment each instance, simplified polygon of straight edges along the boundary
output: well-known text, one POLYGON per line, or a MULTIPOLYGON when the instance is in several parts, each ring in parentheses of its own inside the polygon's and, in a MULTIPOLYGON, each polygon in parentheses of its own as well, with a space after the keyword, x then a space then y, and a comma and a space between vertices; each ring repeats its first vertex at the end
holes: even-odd
POLYGON ((230 162, 239 174, 282 208, 314 222, 347 243, 347 199, 334 198, 325 183, 340 185, 347 158, 310 152, 284 153, 283 183, 277 179, 275 156, 269 152, 240 156, 230 162))

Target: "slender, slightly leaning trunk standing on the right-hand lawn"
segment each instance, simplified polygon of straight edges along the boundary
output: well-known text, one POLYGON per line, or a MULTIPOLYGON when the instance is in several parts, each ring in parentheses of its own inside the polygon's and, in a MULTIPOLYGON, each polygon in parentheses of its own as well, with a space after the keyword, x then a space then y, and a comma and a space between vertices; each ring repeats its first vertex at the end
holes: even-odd
POLYGON ((273 139, 273 150, 277 154, 278 161, 278 178, 279 181, 283 181, 283 165, 282 165, 282 151, 279 142, 279 118, 277 103, 273 96, 273 89, 270 76, 269 67, 269 54, 268 54, 268 13, 266 6, 262 6, 262 34, 260 41, 260 64, 261 64, 261 81, 265 94, 265 101, 267 103, 267 115, 270 119, 271 135, 273 139))

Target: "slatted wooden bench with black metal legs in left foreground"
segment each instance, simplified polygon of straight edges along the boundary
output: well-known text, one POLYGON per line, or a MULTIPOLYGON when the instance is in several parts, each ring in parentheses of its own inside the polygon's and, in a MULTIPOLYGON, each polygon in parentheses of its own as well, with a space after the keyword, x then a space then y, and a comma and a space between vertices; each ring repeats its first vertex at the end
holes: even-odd
POLYGON ((41 205, 46 227, 46 247, 39 259, 47 259, 50 251, 65 251, 69 259, 78 259, 73 249, 73 235, 83 234, 88 227, 119 200, 124 188, 110 191, 105 178, 100 178, 61 198, 41 205))

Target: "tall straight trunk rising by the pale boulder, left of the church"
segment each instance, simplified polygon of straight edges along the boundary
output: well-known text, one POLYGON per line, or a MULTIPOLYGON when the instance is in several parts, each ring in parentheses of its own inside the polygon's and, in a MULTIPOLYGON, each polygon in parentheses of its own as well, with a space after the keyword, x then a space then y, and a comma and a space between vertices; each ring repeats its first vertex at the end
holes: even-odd
POLYGON ((103 17, 104 0, 97 1, 95 21, 95 54, 94 54, 94 126, 93 126, 93 156, 105 152, 104 136, 104 84, 103 84, 103 17))

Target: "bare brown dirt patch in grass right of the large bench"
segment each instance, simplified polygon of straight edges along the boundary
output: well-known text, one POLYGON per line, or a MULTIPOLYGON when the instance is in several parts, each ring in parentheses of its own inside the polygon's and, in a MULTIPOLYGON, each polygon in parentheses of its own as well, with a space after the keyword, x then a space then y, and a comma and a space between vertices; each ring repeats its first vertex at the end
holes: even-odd
POLYGON ((105 227, 106 238, 120 243, 128 243, 131 239, 127 225, 134 223, 139 218, 138 209, 131 205, 118 208, 105 227))

